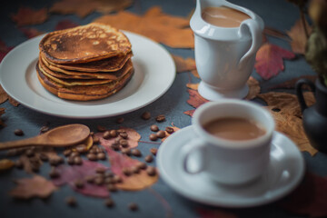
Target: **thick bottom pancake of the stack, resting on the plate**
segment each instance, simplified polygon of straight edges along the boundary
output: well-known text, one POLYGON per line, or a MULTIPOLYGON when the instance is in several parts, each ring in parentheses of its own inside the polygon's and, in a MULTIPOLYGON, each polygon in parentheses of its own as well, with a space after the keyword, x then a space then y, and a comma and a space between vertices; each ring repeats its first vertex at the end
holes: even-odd
POLYGON ((75 85, 66 87, 63 84, 58 84, 52 79, 48 78, 41 72, 38 65, 36 65, 37 78, 40 83, 50 93, 57 95, 60 98, 75 100, 75 101, 90 101, 108 97, 120 91, 126 85, 134 74, 134 68, 131 68, 127 74, 124 74, 119 80, 108 84, 97 85, 75 85))

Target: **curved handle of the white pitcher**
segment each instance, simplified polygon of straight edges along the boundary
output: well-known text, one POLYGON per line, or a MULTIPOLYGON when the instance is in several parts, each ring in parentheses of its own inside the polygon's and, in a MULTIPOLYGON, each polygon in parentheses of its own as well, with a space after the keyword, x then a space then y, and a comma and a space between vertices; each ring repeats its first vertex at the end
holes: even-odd
POLYGON ((260 28, 260 25, 253 19, 244 20, 240 26, 239 33, 238 33, 240 37, 249 34, 252 36, 252 45, 249 51, 247 51, 243 55, 243 57, 241 57, 239 62, 239 68, 242 68, 243 64, 246 64, 247 59, 253 54, 255 54, 260 48, 260 46, 262 45, 262 41, 263 41, 262 30, 260 28))

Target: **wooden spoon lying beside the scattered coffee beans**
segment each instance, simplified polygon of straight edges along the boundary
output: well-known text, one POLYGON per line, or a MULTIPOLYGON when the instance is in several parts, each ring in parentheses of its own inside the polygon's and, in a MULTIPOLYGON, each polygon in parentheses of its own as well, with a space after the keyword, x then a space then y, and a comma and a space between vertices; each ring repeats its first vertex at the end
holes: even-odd
POLYGON ((30 145, 64 147, 82 143, 90 134, 90 129, 84 124, 67 124, 56 127, 45 134, 33 138, 0 143, 0 151, 5 149, 25 147, 30 145))

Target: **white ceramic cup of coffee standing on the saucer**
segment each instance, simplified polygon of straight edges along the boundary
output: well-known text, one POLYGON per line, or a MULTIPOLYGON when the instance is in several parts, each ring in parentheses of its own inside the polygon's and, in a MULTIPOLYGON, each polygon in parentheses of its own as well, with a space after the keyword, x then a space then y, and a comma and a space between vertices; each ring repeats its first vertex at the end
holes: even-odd
POLYGON ((192 125, 196 137, 181 150, 187 173, 203 172, 218 183, 236 185, 257 179, 267 169, 274 121, 261 106, 237 99, 206 103, 195 110, 192 125), (227 140, 203 129, 223 117, 250 119, 262 126, 265 134, 250 140, 227 140))

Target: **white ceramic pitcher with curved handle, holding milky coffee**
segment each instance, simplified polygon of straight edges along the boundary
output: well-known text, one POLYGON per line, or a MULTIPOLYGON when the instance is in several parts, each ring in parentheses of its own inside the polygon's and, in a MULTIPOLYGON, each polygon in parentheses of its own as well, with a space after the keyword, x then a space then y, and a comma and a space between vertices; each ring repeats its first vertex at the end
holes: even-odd
POLYGON ((245 97, 255 54, 262 45, 263 19, 225 0, 197 0, 190 25, 194 33, 196 67, 202 79, 199 94, 211 101, 245 97), (233 8, 251 18, 238 27, 221 27, 203 20, 204 8, 220 6, 233 8))

